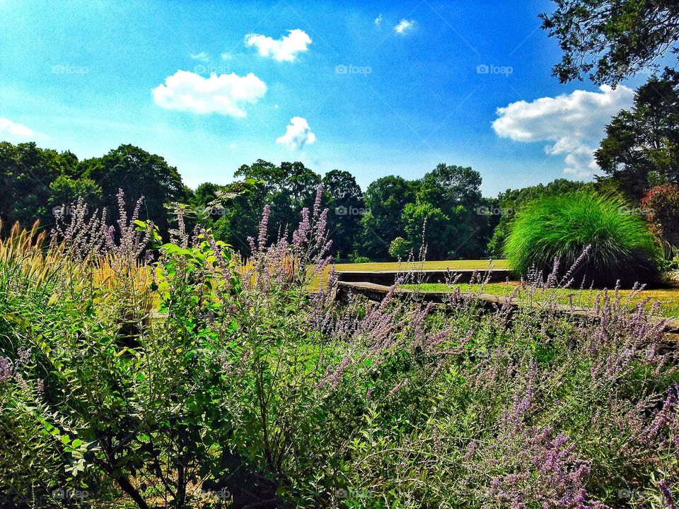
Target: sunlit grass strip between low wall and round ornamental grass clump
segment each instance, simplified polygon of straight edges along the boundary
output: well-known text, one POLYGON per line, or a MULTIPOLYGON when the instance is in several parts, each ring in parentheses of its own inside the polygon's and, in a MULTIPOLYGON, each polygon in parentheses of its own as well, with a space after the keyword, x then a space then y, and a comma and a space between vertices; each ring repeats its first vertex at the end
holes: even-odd
MULTIPOLYGON (((455 287, 459 287, 460 291, 476 293, 481 291, 483 293, 492 293, 497 296, 508 296, 511 291, 518 286, 516 281, 508 281, 506 283, 487 283, 486 285, 446 285, 443 283, 424 283, 420 285, 404 285, 414 291, 429 291, 429 292, 448 292, 453 291, 455 287)), ((545 292, 538 291, 535 293, 537 300, 545 300, 554 295, 559 304, 568 304, 569 296, 573 296, 573 305, 582 307, 591 307, 600 290, 576 290, 570 288, 559 288, 555 290, 547 290, 545 292)), ((620 290, 623 301, 629 298, 630 290, 620 290)), ((520 289, 516 294, 516 298, 527 300, 530 298, 528 291, 520 289)), ((629 305, 634 306, 638 303, 643 303, 650 298, 651 302, 646 304, 647 308, 651 308, 654 301, 661 303, 660 313, 664 317, 679 317, 679 283, 670 288, 655 288, 653 290, 644 290, 629 299, 629 305)))

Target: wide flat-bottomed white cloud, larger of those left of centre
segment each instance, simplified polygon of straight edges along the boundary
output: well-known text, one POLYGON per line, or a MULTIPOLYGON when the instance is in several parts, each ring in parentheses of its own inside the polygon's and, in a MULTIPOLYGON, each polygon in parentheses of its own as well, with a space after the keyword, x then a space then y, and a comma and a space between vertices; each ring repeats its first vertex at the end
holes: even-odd
POLYGON ((177 71, 165 78, 164 85, 153 88, 153 100, 167 110, 195 113, 221 113, 245 117, 246 103, 257 103, 267 92, 265 83, 250 73, 247 76, 211 74, 203 78, 189 71, 177 71))

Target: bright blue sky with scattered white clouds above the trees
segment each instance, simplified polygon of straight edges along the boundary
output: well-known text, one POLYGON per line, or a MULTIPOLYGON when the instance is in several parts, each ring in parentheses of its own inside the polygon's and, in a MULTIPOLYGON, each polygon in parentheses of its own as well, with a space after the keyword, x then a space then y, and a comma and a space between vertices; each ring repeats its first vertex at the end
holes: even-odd
POLYGON ((261 158, 385 175, 471 166, 484 196, 591 180, 647 76, 561 84, 542 0, 0 0, 0 140, 133 144, 190 187, 261 158))

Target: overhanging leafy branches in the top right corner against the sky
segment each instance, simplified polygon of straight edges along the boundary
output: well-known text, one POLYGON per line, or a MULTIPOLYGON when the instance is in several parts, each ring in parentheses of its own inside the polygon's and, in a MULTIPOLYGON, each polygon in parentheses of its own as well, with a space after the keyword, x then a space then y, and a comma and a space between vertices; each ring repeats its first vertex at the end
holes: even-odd
POLYGON ((677 54, 676 0, 554 0, 542 28, 557 37, 563 57, 552 75, 566 83, 588 74, 594 83, 615 85, 666 52, 677 54))

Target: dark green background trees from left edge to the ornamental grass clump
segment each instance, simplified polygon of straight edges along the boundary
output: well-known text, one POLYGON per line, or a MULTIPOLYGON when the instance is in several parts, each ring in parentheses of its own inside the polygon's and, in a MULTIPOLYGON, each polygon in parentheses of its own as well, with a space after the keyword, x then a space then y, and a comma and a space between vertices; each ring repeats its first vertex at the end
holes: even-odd
MULTIPOLYGON (((270 205, 273 237, 291 233, 296 211, 311 208, 323 183, 332 254, 340 258, 386 259, 396 237, 419 252, 422 230, 429 259, 484 256, 497 216, 479 213, 489 202, 481 196, 481 175, 469 167, 439 164, 419 180, 389 175, 368 186, 366 193, 354 176, 332 170, 321 178, 301 162, 279 165, 257 160, 235 172, 243 182, 205 182, 195 192, 185 187, 177 168, 161 156, 132 145, 121 145, 102 157, 79 161, 71 152, 37 148, 35 144, 0 146, 0 218, 24 226, 39 220, 54 226, 54 209, 83 199, 90 213, 117 209, 117 193, 127 198, 132 213, 141 196, 141 219, 153 218, 163 238, 170 216, 182 204, 187 226, 211 228, 219 240, 249 256, 248 237, 257 230, 259 211, 270 205)), ((66 214, 70 211, 66 209, 66 214)))

